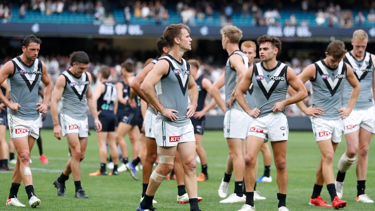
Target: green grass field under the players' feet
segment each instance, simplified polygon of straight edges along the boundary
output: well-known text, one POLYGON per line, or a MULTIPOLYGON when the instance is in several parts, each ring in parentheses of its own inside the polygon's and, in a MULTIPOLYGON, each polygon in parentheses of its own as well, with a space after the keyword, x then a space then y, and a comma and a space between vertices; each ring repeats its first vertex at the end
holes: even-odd
MULTIPOLYGON (((9 133, 6 134, 7 139, 9 133)), ((138 206, 142 192, 142 182, 133 180, 128 172, 120 173, 119 176, 89 176, 90 172, 99 169, 98 145, 96 143, 95 133, 89 136, 86 157, 81 162, 82 186, 89 199, 74 198, 74 182, 72 176, 66 182, 66 197, 57 196, 57 191, 52 182, 61 174, 68 158, 68 145, 66 139, 57 140, 53 136, 52 130, 42 130, 43 151, 49 159, 49 164, 42 164, 39 160, 39 152, 36 144, 31 152, 33 163, 30 165, 33 172, 34 190, 41 199, 39 210, 124 210, 135 211, 138 206)), ((373 137, 369 150, 369 167, 366 182, 366 193, 375 199, 375 159, 373 137)), ((129 142, 128 142, 129 143, 129 142)), ((226 158, 228 156, 228 146, 223 138, 222 131, 206 131, 203 140, 204 148, 208 156, 208 173, 210 179, 198 183, 199 196, 203 201, 199 206, 203 211, 237 211, 241 208, 241 203, 220 204, 221 200, 217 194, 221 178, 223 177, 226 158)), ((129 145, 130 146, 130 145, 129 145)), ((345 141, 339 144, 335 160, 334 171, 337 172, 337 163, 342 153, 345 151, 345 141)), ((129 151, 129 157, 131 152, 129 151)), ((291 132, 288 141, 287 167, 289 172, 287 206, 291 211, 315 211, 328 210, 329 208, 320 208, 309 206, 309 198, 312 193, 312 187, 315 181, 315 170, 320 160, 320 152, 315 143, 312 132, 291 132)), ((259 159, 258 176, 263 173, 263 159, 259 159)), ((13 168, 12 165, 10 165, 13 168)), ((110 171, 110 170, 108 170, 110 171)), ((201 166, 197 165, 197 173, 201 171, 201 166)), ((257 190, 261 195, 267 197, 267 200, 255 202, 258 211, 277 211, 278 200, 276 193, 276 170, 274 165, 271 167, 272 183, 259 183, 257 190)), ((0 196, 3 202, 0 210, 26 210, 30 209, 24 185, 20 187, 18 199, 27 205, 24 208, 5 206, 6 197, 9 194, 11 183, 11 172, 0 172, 0 196)), ((142 177, 142 172, 138 172, 138 177, 142 177)), ((348 206, 345 210, 352 211, 370 211, 375 210, 374 204, 365 204, 355 202, 357 194, 355 166, 352 166, 347 172, 345 179, 344 197, 348 206)), ((233 193, 233 179, 229 184, 228 193, 233 193)), ((159 202, 155 205, 157 210, 180 211, 190 210, 188 204, 180 205, 176 202, 177 184, 174 180, 165 180, 156 193, 155 200, 159 202)), ((326 187, 323 187, 321 196, 329 201, 330 197, 326 187)))

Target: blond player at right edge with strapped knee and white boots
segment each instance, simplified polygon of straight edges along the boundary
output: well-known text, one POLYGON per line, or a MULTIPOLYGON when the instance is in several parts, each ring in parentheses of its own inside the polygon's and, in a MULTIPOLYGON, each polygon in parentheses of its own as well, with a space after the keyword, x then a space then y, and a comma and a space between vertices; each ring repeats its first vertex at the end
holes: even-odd
MULTIPOLYGON (((357 197, 356 202, 374 203, 365 194, 365 184, 368 166, 368 150, 372 134, 375 133, 375 109, 372 99, 375 90, 375 55, 366 51, 368 35, 362 29, 353 33, 351 44, 353 50, 347 52, 344 62, 348 63, 354 71, 354 75, 361 84, 361 90, 356 105, 350 115, 344 121, 344 134, 347 150, 341 156, 338 163, 338 173, 335 180, 337 196, 341 199, 344 192, 345 173, 351 164, 357 161, 357 197), (373 90, 373 91, 371 91, 373 90)), ((348 107, 352 87, 348 81, 344 81, 342 91, 342 107, 348 107)))

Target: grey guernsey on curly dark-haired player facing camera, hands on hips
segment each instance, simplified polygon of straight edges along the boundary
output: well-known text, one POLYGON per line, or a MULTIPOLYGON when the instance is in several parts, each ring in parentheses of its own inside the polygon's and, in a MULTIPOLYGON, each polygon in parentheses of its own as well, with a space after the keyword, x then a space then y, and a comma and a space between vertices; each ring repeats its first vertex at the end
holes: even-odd
MULTIPOLYGON (((260 110, 258 117, 273 113, 276 102, 287 98, 287 69, 288 66, 279 61, 273 69, 264 68, 263 62, 254 65, 251 82, 254 84, 255 106, 260 110)), ((286 114, 285 108, 282 112, 286 114)))

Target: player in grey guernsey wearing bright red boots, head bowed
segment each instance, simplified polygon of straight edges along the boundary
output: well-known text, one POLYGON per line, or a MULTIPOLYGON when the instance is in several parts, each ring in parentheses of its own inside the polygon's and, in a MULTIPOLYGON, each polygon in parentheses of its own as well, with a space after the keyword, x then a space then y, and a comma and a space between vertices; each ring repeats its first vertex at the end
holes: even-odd
MULTIPOLYGON (((309 202, 312 206, 331 206, 320 197, 324 182, 331 196, 332 208, 339 209, 347 206, 347 202, 340 200, 336 194, 332 163, 344 130, 342 119, 349 116, 353 110, 360 92, 360 84, 350 65, 342 61, 345 53, 347 50, 344 42, 335 40, 328 45, 325 59, 307 66, 298 75, 303 83, 310 80, 312 84, 313 105, 306 107, 303 102, 298 102, 297 106, 303 113, 310 116, 315 140, 321 152, 321 161, 309 202), (345 78, 353 89, 348 106, 343 109, 341 97, 345 78)), ((289 89, 289 93, 294 92, 289 89)))

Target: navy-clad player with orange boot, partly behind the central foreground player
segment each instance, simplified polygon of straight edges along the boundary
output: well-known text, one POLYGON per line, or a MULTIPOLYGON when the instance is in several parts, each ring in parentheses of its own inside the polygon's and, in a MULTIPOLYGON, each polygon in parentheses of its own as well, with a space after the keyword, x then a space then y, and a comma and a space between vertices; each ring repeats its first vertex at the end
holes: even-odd
POLYGON ((204 115, 216 105, 216 102, 214 99, 212 99, 208 105, 205 104, 206 95, 207 93, 211 92, 212 83, 207 78, 204 78, 203 75, 198 75, 198 69, 200 66, 198 60, 190 59, 187 62, 190 64, 190 74, 198 87, 198 106, 196 107, 195 113, 190 120, 194 126, 196 153, 198 154, 202 165, 202 172, 199 173, 196 179, 198 182, 202 182, 208 179, 207 154, 202 146, 205 127, 204 115))

